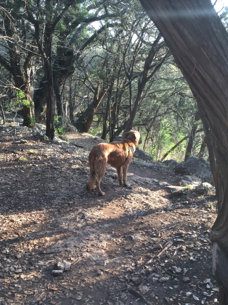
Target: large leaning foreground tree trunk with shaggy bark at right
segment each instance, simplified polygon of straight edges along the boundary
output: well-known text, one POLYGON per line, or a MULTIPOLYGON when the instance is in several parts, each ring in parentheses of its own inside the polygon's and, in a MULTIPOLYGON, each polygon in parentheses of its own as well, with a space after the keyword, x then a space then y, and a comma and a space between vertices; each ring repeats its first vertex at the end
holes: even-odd
POLYGON ((195 95, 218 196, 213 273, 228 303, 228 35, 210 0, 140 0, 195 95))

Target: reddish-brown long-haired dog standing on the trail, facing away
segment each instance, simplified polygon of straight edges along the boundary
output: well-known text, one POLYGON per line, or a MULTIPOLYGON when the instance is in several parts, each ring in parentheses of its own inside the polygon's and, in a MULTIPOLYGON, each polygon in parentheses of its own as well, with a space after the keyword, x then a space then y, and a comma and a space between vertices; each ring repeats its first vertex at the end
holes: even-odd
POLYGON ((140 133, 138 131, 130 130, 126 132, 123 141, 95 145, 89 153, 90 177, 89 181, 86 183, 86 188, 89 191, 92 191, 95 188, 96 182, 98 194, 101 196, 105 195, 100 188, 100 183, 105 175, 107 163, 116 167, 119 185, 123 184, 124 186, 127 186, 127 169, 139 143, 141 143, 140 133))

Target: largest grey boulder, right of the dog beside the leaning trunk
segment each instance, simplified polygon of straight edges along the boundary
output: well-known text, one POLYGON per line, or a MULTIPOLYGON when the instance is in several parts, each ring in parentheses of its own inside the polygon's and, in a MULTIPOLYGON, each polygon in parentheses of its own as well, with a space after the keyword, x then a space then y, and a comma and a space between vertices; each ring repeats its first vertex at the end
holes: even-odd
POLYGON ((174 170, 181 175, 194 175, 201 178, 202 181, 212 184, 210 163, 203 158, 190 157, 178 163, 174 170))

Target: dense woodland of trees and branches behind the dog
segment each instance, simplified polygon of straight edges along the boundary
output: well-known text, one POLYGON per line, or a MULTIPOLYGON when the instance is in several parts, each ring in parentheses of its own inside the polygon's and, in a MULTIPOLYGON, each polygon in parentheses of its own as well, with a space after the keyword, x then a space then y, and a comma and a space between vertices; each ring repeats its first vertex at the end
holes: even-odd
POLYGON ((1 124, 20 109, 51 139, 69 123, 108 141, 133 128, 154 160, 208 157, 192 92, 138 1, 10 0, 0 12, 1 124))

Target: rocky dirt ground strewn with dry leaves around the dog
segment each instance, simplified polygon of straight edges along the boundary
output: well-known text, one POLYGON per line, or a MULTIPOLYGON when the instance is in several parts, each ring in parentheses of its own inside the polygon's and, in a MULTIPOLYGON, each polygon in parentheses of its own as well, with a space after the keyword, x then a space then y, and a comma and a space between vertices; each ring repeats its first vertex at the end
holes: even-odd
POLYGON ((173 197, 172 168, 134 159, 131 186, 108 167, 97 196, 87 160, 102 140, 45 142, 18 122, 0 125, 1 305, 218 303, 215 194, 173 197))

